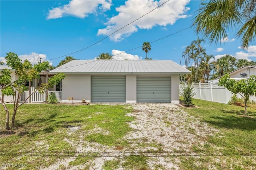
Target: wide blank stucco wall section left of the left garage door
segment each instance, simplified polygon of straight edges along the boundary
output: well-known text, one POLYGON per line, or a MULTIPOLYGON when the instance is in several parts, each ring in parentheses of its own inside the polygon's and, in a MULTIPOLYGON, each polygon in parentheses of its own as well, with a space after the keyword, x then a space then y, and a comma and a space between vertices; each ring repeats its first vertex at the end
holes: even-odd
POLYGON ((84 74, 66 74, 62 80, 62 102, 71 102, 68 97, 73 97, 73 102, 91 101, 91 76, 84 74))

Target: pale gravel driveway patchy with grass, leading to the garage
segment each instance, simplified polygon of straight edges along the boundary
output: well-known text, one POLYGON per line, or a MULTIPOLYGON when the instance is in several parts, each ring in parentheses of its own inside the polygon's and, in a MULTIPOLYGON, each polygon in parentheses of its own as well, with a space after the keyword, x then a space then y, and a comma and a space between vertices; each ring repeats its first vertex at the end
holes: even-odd
MULTIPOLYGON (((68 139, 66 141, 75 146, 77 152, 98 153, 100 156, 84 165, 69 166, 68 163, 75 160, 74 156, 56 162, 46 169, 57 169, 60 165, 70 170, 83 169, 86 166, 91 170, 102 169, 105 161, 116 160, 122 163, 122 158, 131 154, 148 156, 146 160, 148 169, 180 169, 179 156, 194 155, 191 150, 192 145, 204 146, 205 137, 218 132, 217 129, 200 122, 174 104, 132 104, 131 106, 134 112, 128 113, 128 116, 135 117, 135 121, 129 122, 129 125, 134 130, 122 139, 129 141, 131 147, 116 149, 98 143, 87 143, 82 140, 81 134, 79 143, 68 139)), ((70 131, 74 130, 76 129, 70 129, 70 131)), ((95 127, 91 133, 95 131, 108 133, 98 127, 95 127)), ((119 166, 117 169, 123 168, 119 166)))

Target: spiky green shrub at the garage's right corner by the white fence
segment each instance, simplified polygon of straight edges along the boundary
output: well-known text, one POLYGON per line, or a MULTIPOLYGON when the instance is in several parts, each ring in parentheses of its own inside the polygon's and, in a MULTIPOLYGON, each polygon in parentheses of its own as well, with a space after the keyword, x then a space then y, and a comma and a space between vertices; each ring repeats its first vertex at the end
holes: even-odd
POLYGON ((191 84, 187 84, 185 88, 182 88, 180 90, 180 94, 183 97, 183 103, 185 104, 185 106, 192 105, 193 96, 196 94, 193 91, 194 86, 192 86, 191 84))

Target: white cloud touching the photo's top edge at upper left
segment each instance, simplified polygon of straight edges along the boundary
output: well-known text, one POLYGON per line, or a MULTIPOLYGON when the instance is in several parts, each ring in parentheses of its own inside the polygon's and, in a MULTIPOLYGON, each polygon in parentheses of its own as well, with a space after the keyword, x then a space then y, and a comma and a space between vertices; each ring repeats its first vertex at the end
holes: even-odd
POLYGON ((49 10, 47 19, 62 18, 70 15, 85 18, 88 14, 96 12, 97 9, 102 11, 110 10, 111 5, 111 0, 72 0, 66 5, 49 10))

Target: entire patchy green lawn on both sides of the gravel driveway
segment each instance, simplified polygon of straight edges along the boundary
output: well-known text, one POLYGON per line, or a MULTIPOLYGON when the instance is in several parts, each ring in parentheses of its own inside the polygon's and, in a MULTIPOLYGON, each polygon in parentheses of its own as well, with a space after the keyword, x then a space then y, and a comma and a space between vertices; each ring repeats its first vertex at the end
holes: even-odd
MULTIPOLYGON (((219 132, 215 136, 202 138, 204 145, 193 145, 191 152, 174 150, 168 158, 179 159, 182 170, 208 169, 209 165, 219 170, 255 169, 256 106, 249 106, 248 116, 245 117, 244 107, 196 99, 193 104, 199 108, 182 109, 219 132)), ((12 113, 12 105, 8 108, 12 113)), ((4 130, 5 111, 2 105, 0 111, 0 162, 26 164, 24 169, 49 167, 70 156, 76 156, 69 162, 70 166, 94 160, 100 153, 88 156, 78 154, 76 147, 68 142, 79 143, 81 134, 82 141, 114 147, 116 152, 122 152, 123 147, 129 148, 132 143, 120 140, 133 130, 127 123, 134 120, 134 117, 126 116, 126 113, 133 111, 128 105, 23 105, 16 115, 16 128, 10 131, 4 130), (79 129, 70 130, 73 127, 79 129)), ((195 133, 195 129, 188 131, 195 133)), ((107 160, 102 168, 115 169, 122 165, 124 169, 148 169, 147 160, 151 158, 142 153, 121 159, 107 160)), ((159 166, 158 169, 164 168, 159 166)))

